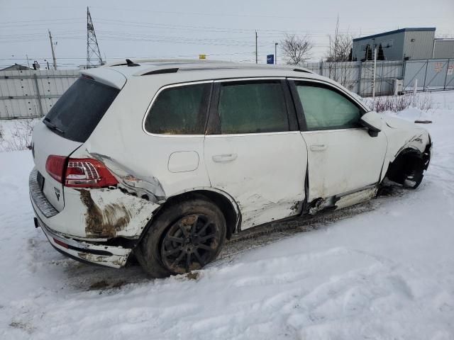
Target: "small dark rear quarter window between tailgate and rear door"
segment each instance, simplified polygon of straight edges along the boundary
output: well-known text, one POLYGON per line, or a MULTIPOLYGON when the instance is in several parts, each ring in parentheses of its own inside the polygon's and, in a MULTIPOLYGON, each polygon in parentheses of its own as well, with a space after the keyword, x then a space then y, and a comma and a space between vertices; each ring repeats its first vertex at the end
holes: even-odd
POLYGON ((145 119, 145 130, 168 135, 203 135, 211 83, 164 89, 145 119))

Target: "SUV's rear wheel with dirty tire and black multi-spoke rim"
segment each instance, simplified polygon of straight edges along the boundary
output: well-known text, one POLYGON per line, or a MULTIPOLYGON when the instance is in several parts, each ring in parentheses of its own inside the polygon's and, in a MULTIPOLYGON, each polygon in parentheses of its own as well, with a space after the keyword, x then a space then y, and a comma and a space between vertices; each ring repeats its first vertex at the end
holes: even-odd
POLYGON ((165 278, 216 259, 226 239, 226 220, 216 204, 196 196, 164 209, 135 250, 146 273, 165 278))

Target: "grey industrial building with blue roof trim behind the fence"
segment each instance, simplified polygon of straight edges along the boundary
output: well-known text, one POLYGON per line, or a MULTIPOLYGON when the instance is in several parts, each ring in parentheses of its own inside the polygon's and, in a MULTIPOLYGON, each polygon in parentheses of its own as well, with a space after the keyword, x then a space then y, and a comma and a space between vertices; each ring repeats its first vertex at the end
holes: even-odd
POLYGON ((353 39, 353 60, 372 59, 382 45, 383 60, 419 60, 454 57, 454 39, 435 39, 436 28, 401 28, 353 39), (370 52, 369 52, 370 51, 370 52), (367 52, 367 53, 366 53, 367 52))

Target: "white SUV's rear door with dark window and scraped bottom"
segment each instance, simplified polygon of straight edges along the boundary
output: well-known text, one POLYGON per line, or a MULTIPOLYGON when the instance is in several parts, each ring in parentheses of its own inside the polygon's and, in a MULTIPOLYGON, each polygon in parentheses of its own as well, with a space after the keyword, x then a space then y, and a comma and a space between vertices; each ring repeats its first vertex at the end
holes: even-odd
POLYGON ((215 81, 204 158, 211 186, 238 203, 241 229, 296 215, 307 152, 287 82, 215 81))

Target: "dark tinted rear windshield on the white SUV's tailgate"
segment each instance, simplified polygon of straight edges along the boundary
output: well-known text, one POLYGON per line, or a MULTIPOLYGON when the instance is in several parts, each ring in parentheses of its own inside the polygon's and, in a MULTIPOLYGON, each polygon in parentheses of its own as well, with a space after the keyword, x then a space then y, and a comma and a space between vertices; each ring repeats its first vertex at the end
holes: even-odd
POLYGON ((119 89, 81 77, 50 109, 43 123, 57 135, 83 143, 119 92, 119 89))

